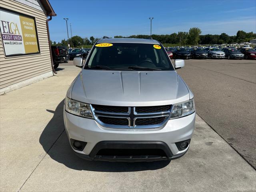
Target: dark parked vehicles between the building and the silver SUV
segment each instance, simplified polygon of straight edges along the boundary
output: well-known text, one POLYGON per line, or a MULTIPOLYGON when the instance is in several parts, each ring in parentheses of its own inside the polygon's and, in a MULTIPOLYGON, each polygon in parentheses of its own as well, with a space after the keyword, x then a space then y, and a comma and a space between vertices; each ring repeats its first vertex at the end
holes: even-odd
POLYGON ((86 59, 91 49, 68 49, 66 46, 52 46, 52 60, 54 69, 56 69, 60 63, 73 60, 75 57, 86 59))

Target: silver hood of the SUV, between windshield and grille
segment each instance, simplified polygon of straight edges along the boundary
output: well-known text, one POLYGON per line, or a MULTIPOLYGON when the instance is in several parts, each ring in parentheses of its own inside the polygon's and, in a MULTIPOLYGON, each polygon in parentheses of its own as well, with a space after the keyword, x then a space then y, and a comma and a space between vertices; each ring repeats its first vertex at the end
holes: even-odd
POLYGON ((176 71, 82 70, 70 96, 88 104, 111 106, 157 106, 190 99, 176 71))

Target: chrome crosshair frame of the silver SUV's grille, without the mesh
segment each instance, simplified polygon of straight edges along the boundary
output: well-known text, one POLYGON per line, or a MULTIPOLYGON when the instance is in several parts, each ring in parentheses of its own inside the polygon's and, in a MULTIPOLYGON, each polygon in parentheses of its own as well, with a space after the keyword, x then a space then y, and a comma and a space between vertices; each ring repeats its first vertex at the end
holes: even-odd
POLYGON ((128 107, 127 113, 115 113, 115 112, 98 111, 94 109, 93 105, 90 105, 94 119, 96 120, 96 122, 98 122, 98 124, 107 128, 115 128, 115 129, 160 128, 164 126, 167 123, 167 121, 170 119, 170 113, 172 111, 172 107, 173 106, 170 105, 170 109, 168 111, 159 111, 159 112, 152 112, 152 113, 138 113, 136 112, 136 107, 128 107), (100 117, 123 118, 128 120, 128 125, 106 124, 99 119, 100 117), (147 118, 152 119, 152 118, 163 118, 163 117, 165 117, 165 119, 159 124, 136 125, 137 119, 147 119, 147 118))

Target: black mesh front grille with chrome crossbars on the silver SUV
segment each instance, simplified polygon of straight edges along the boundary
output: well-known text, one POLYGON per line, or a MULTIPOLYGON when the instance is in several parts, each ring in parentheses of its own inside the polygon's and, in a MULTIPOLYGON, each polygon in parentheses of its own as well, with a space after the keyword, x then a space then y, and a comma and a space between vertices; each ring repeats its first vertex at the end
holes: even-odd
POLYGON ((96 121, 109 128, 148 129, 163 126, 168 121, 171 105, 103 106, 91 105, 96 121))

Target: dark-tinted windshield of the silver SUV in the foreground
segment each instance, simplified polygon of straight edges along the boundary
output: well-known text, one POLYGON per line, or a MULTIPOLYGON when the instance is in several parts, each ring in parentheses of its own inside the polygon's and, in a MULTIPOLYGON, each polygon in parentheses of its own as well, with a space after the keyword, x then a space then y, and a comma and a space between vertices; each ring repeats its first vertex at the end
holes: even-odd
POLYGON ((174 70, 164 48, 159 45, 113 43, 112 46, 108 47, 94 46, 91 52, 84 68, 102 70, 174 70))

